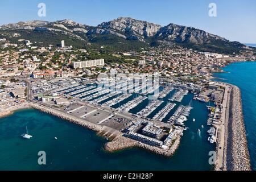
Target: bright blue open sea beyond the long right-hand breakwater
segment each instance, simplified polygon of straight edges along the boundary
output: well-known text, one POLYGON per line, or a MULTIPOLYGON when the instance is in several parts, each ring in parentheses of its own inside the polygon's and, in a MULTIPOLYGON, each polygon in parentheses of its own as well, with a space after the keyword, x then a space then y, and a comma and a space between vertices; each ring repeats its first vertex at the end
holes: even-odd
POLYGON ((214 80, 237 85, 241 89, 243 117, 251 158, 256 169, 256 62, 232 63, 223 69, 226 73, 214 73, 214 80))

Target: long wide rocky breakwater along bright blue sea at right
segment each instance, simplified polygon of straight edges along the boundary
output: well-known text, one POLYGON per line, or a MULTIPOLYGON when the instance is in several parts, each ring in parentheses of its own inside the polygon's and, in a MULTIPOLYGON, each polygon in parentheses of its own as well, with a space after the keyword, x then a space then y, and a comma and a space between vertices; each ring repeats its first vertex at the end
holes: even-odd
POLYGON ((229 122, 226 125, 226 170, 251 170, 250 156, 247 148, 245 125, 243 122, 241 92, 237 86, 231 85, 229 122))

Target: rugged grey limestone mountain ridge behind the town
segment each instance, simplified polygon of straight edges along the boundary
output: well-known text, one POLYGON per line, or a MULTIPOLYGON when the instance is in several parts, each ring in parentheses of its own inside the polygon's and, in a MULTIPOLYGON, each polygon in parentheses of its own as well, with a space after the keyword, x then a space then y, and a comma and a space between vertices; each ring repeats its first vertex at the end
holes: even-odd
MULTIPOLYGON (((111 39, 117 43, 119 38, 125 39, 122 42, 135 41, 145 45, 159 43, 159 40, 179 44, 180 46, 195 48, 214 52, 238 52, 238 49, 246 48, 239 42, 230 42, 207 31, 194 27, 181 26, 170 23, 167 26, 150 23, 144 20, 137 20, 129 17, 119 17, 102 22, 97 26, 88 26, 64 19, 55 22, 43 20, 31 20, 28 22, 10 23, 0 26, 1 31, 28 31, 28 34, 60 34, 60 36, 71 36, 71 38, 85 42, 104 43, 111 39), (115 40, 116 39, 116 40, 115 40)), ((0 34, 1 36, 2 34, 0 34)), ((3 36, 3 35, 2 35, 3 36)))

